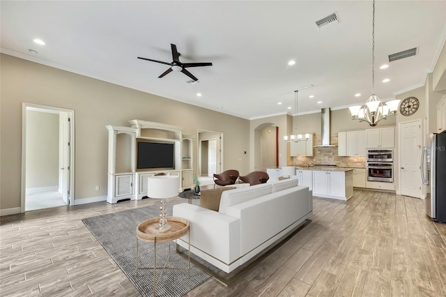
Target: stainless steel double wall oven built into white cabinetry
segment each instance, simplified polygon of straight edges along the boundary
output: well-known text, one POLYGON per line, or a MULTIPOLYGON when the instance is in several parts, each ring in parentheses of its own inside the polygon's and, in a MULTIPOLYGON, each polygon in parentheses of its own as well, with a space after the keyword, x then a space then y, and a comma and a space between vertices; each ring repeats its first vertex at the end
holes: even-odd
POLYGON ((393 183, 393 150, 367 150, 367 181, 393 183))

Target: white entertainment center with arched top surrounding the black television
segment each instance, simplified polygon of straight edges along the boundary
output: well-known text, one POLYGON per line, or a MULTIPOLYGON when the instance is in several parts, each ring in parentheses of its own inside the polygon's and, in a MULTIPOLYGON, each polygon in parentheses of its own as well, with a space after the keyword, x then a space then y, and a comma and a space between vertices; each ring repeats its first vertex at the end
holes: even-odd
POLYGON ((109 131, 107 202, 141 199, 147 194, 147 178, 160 174, 179 177, 178 192, 192 188, 192 135, 183 128, 151 121, 132 120, 130 127, 106 125, 109 131), (137 143, 174 144, 174 167, 137 169, 137 143))

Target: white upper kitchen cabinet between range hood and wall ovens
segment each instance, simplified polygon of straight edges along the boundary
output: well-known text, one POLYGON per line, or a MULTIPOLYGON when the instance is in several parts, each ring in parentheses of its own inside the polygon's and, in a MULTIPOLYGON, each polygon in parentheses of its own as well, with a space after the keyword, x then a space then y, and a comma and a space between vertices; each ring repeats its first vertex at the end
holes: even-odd
POLYGON ((365 130, 346 131, 338 133, 338 155, 365 155, 365 130))

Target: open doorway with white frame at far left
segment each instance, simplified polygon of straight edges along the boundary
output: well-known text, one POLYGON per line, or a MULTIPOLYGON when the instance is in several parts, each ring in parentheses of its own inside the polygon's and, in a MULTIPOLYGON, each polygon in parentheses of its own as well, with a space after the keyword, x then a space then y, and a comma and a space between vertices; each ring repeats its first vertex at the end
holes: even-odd
POLYGON ((22 209, 74 205, 74 110, 22 104, 22 209))

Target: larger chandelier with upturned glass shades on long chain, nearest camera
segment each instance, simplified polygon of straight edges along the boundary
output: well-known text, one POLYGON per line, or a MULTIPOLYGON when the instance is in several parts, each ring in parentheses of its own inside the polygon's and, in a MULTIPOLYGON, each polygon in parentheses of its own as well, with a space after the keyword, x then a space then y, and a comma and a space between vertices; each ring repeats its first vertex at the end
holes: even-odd
POLYGON ((366 121, 369 125, 376 126, 382 120, 387 119, 387 116, 394 116, 397 114, 397 109, 400 100, 390 100, 381 102, 378 96, 375 95, 375 0, 373 3, 373 22, 371 33, 371 96, 363 106, 348 107, 351 112, 353 120, 360 122, 366 121))

